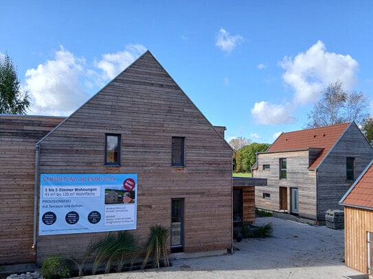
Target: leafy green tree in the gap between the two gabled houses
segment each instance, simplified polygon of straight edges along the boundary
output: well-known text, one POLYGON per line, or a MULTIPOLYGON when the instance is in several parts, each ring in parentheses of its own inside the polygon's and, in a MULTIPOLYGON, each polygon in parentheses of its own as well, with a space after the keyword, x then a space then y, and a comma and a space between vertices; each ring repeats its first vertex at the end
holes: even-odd
POLYGON ((236 151, 236 173, 251 171, 251 167, 256 163, 256 154, 264 152, 270 145, 268 143, 251 143, 236 151))

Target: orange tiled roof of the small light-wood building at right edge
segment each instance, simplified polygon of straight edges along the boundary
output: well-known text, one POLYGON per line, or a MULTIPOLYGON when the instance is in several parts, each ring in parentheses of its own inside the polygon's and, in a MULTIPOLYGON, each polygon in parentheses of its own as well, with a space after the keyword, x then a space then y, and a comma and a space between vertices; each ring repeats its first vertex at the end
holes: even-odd
POLYGON ((352 184, 339 204, 373 210, 373 160, 352 184))

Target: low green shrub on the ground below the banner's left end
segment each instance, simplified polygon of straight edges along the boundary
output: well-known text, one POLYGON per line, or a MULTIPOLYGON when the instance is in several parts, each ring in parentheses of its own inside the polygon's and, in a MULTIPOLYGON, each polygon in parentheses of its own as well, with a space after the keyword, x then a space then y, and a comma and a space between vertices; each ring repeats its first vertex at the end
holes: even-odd
POLYGON ((47 256, 41 266, 41 275, 45 279, 69 278, 71 264, 64 256, 47 256))

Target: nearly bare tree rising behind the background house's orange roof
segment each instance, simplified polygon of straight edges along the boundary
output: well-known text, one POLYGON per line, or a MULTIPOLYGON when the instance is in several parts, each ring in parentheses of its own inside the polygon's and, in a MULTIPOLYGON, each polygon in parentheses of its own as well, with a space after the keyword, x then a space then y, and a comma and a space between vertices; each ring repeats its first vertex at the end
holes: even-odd
POLYGON ((331 83, 324 89, 323 97, 308 114, 306 128, 352 122, 363 123, 368 117, 368 99, 363 93, 344 90, 342 83, 331 83))

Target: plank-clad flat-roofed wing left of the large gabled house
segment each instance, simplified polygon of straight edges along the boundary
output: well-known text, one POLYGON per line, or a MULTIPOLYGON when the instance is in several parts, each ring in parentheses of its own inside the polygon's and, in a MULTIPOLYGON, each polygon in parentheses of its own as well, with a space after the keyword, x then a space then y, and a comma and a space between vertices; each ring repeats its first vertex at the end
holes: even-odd
POLYGON ((0 116, 0 265, 35 261, 35 143, 61 117, 0 116))

